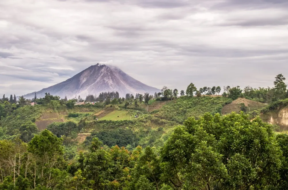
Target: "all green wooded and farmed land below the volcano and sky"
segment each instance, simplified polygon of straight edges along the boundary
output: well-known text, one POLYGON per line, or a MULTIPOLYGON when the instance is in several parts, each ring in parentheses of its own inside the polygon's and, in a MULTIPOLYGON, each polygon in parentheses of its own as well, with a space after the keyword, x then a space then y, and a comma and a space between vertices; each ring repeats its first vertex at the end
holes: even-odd
POLYGON ((3 95, 0 189, 288 189, 288 135, 261 119, 287 98, 281 74, 272 88, 3 95), (267 105, 221 115, 237 98, 267 105))

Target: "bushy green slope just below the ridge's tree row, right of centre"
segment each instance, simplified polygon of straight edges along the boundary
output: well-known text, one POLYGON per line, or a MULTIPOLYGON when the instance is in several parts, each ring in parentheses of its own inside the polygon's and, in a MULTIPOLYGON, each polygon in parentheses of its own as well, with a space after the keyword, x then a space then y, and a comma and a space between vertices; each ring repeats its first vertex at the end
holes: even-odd
POLYGON ((182 96, 151 113, 162 119, 183 123, 188 117, 198 118, 206 112, 221 113, 223 106, 231 102, 230 98, 221 96, 182 96))

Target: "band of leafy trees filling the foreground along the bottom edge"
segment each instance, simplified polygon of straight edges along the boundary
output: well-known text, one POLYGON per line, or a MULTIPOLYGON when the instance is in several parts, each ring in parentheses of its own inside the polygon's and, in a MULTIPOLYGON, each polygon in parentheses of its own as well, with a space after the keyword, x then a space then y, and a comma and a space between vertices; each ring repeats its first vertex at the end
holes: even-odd
POLYGON ((287 189, 288 135, 247 115, 205 114, 175 128, 158 152, 103 146, 65 160, 45 129, 28 143, 0 141, 0 189, 287 189))

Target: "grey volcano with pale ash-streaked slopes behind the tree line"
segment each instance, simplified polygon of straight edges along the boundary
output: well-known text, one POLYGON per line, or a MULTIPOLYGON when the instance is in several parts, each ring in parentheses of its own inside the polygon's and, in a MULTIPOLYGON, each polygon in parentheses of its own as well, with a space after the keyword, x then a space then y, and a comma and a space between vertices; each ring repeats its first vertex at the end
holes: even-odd
MULTIPOLYGON (((60 96, 61 98, 67 96, 68 99, 72 99, 75 96, 78 98, 79 95, 86 98, 88 94, 97 94, 98 96, 101 92, 112 91, 118 91, 120 97, 125 97, 127 93, 135 96, 136 93, 149 92, 153 95, 161 90, 141 83, 117 67, 97 64, 64 82, 44 88, 36 94, 37 98, 41 98, 45 96, 46 92, 50 92, 53 96, 60 96)), ((24 98, 32 99, 34 96, 35 92, 24 95, 24 98)))

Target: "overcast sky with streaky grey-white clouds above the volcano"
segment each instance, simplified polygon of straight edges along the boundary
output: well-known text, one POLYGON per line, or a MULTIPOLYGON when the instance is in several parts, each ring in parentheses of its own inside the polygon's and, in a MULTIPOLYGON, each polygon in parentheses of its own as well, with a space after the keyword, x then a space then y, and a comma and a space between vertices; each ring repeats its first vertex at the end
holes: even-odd
POLYGON ((287 0, 0 0, 0 94, 90 65, 185 90, 288 81, 287 0))

